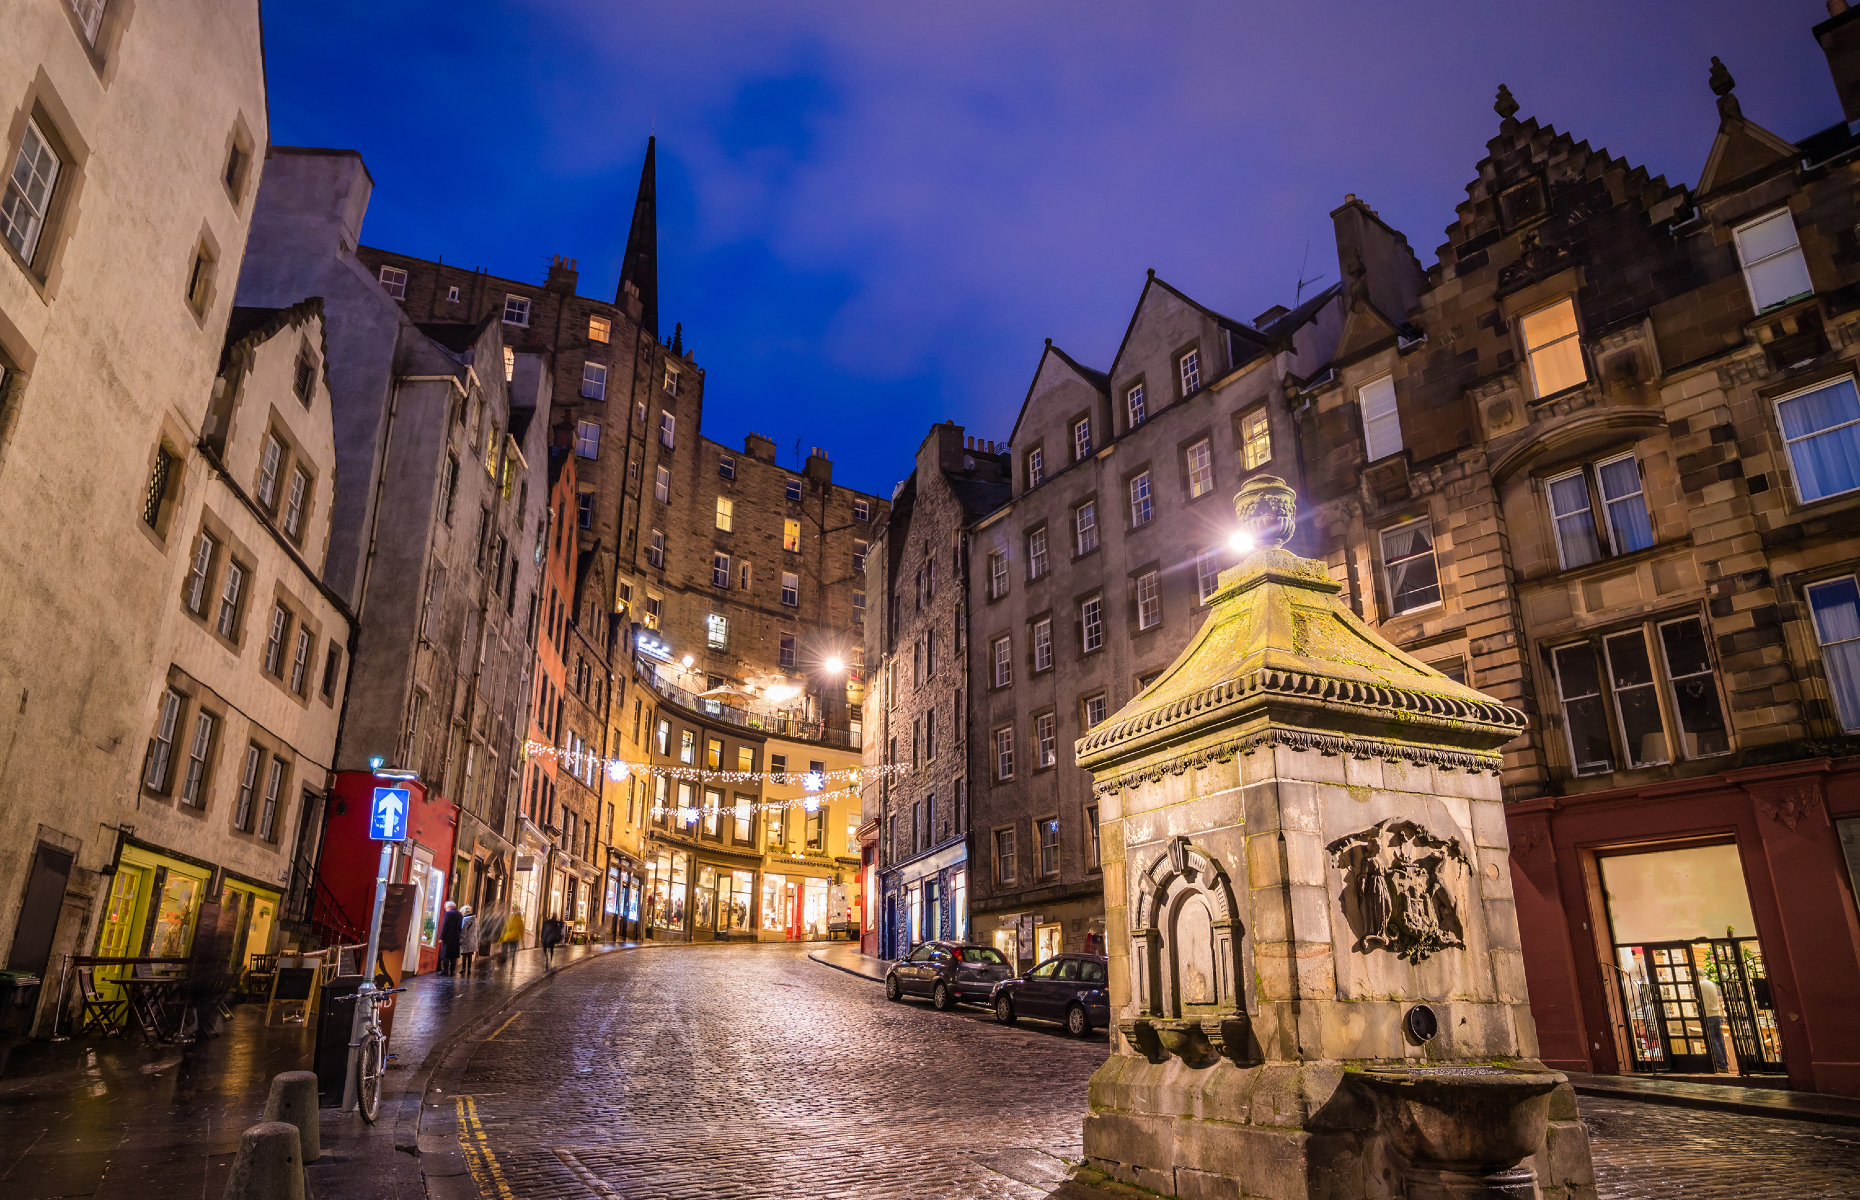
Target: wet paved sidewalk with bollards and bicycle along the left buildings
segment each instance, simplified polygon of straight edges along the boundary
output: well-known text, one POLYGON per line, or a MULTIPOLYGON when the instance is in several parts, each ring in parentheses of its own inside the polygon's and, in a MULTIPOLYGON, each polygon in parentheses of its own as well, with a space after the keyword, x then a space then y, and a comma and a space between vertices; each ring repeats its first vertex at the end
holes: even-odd
MULTIPOLYGON (((409 980, 394 1014, 381 1118, 368 1126, 340 1109, 322 1111, 324 1157, 309 1168, 311 1193, 422 1196, 413 1129, 420 1090, 445 1049, 547 975, 616 949, 625 945, 564 947, 552 971, 543 969, 541 951, 521 951, 510 964, 480 964, 469 979, 409 980)), ((216 1200, 240 1133, 262 1120, 272 1075, 312 1066, 314 1027, 262 1021, 262 1005, 240 1005, 219 1036, 188 1046, 20 1044, 0 1077, 0 1194, 216 1200)))

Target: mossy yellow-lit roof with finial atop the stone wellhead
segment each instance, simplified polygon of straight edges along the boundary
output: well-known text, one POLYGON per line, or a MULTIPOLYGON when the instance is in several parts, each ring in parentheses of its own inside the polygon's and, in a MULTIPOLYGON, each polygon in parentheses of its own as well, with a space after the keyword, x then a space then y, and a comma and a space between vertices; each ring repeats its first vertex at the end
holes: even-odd
POLYGON ((1261 549, 1220 573, 1207 621, 1162 675, 1079 739, 1097 791, 1270 746, 1497 772, 1525 714, 1397 649, 1322 562, 1285 551, 1296 493, 1283 480, 1254 476, 1233 506, 1261 549))

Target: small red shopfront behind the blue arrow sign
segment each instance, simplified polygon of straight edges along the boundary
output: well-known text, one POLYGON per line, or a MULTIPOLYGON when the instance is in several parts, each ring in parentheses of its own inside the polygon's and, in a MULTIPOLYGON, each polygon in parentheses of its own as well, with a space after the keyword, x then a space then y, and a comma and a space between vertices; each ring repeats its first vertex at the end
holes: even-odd
MULTIPOLYGON (((418 780, 391 780, 366 770, 339 770, 324 833, 318 874, 344 913, 361 930, 368 928, 374 908, 374 880, 381 863, 381 843, 368 837, 368 811, 376 787, 405 787, 411 793, 407 841, 396 847, 387 880, 411 884, 404 945, 405 971, 428 973, 439 966, 439 923, 452 895, 450 867, 458 841, 459 809, 450 800, 426 791, 418 780)), ((392 938, 389 938, 392 941, 392 938)))

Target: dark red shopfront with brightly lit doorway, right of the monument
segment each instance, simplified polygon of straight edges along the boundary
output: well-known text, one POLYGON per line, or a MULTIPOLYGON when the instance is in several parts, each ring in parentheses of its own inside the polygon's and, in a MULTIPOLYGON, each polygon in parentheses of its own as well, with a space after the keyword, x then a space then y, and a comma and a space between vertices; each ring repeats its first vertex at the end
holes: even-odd
POLYGON ((1507 817, 1546 1064, 1860 1096, 1860 759, 1507 817))

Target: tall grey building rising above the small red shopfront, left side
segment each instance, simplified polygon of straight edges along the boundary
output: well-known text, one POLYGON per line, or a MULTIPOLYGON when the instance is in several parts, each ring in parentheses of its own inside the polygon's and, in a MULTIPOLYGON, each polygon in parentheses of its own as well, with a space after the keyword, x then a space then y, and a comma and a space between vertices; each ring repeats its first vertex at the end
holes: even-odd
POLYGON ((510 900, 541 573, 525 547, 545 519, 552 381, 536 355, 504 353, 498 320, 415 322, 394 303, 355 253, 370 192, 353 151, 272 147, 238 287, 255 305, 322 296, 327 322, 342 480, 331 584, 361 633, 335 763, 346 820, 331 822, 320 874, 365 927, 376 865, 355 813, 378 761, 405 772, 428 832, 396 852, 392 878, 418 886, 430 966, 443 899, 510 900))

